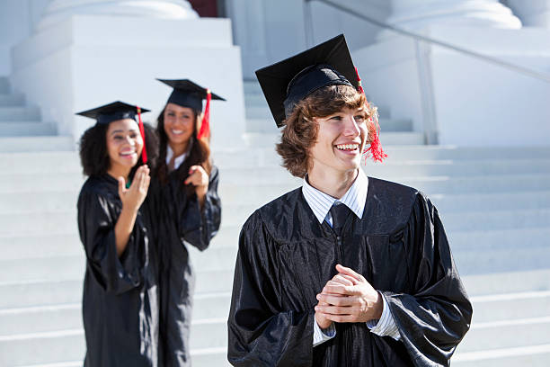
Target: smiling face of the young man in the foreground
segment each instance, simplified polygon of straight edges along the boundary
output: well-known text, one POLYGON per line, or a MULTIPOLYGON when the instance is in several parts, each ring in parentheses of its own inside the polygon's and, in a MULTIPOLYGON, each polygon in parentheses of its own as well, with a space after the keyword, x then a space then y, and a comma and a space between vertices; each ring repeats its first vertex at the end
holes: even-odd
POLYGON ((318 124, 317 139, 309 149, 308 174, 342 175, 358 169, 368 139, 365 109, 344 107, 327 117, 315 117, 314 122, 318 124))

